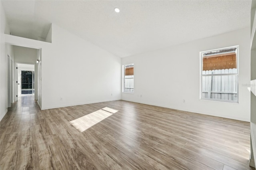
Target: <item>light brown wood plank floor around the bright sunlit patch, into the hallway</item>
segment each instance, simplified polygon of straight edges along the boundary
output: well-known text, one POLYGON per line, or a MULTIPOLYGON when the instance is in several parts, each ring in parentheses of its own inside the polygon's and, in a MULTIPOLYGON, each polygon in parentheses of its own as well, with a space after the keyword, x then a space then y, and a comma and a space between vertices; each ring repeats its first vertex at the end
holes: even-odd
POLYGON ((249 152, 247 122, 127 101, 41 111, 24 96, 0 122, 1 170, 255 170, 249 152), (71 125, 104 107, 118 112, 71 125))

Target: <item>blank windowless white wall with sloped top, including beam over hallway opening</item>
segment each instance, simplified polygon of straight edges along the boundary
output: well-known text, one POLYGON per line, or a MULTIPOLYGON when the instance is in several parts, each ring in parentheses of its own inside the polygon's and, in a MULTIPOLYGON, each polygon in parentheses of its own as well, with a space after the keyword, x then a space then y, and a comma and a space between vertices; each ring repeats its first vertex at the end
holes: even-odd
POLYGON ((121 99, 121 59, 55 24, 52 43, 11 35, 5 42, 42 49, 42 109, 121 99))

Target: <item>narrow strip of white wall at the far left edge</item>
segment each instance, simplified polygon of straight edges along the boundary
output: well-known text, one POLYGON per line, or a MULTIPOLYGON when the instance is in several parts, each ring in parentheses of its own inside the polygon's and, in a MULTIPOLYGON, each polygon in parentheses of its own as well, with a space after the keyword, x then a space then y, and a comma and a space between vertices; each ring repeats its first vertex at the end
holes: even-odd
POLYGON ((0 3, 0 121, 7 113, 8 107, 8 55, 13 61, 13 47, 5 44, 5 33, 10 34, 10 30, 4 8, 0 3))

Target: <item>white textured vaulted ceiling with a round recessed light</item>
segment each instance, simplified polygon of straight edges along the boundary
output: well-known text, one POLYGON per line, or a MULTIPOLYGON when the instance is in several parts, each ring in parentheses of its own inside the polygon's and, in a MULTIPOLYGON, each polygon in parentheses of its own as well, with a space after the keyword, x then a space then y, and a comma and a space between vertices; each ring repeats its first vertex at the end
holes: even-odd
POLYGON ((12 35, 45 38, 54 23, 126 57, 250 26, 251 0, 1 0, 12 35), (120 9, 119 13, 114 8, 120 9))

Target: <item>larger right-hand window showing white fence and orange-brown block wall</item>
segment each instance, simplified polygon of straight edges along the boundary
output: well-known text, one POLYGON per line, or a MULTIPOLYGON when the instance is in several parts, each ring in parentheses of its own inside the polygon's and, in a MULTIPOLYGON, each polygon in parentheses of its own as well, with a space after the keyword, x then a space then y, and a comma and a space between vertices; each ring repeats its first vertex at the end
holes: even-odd
POLYGON ((200 52, 200 99, 238 103, 238 46, 200 52))

